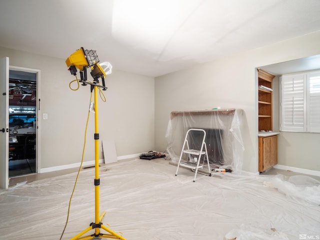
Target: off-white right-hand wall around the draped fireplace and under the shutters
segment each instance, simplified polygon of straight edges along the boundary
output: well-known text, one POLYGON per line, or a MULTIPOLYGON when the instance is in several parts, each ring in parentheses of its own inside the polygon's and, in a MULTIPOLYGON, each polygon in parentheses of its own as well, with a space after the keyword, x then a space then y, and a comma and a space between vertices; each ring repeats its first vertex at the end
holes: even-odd
MULTIPOLYGON (((197 64, 155 78, 155 146, 165 149, 165 130, 169 114, 173 110, 210 109, 215 106, 242 108, 244 162, 243 170, 258 171, 257 144, 257 74, 258 66, 292 60, 320 53, 320 31, 288 39, 251 51, 223 57, 211 62, 197 64)), ((312 138, 320 142, 320 134, 312 138), (315 139, 314 139, 315 138, 315 139)), ((318 161, 314 158, 317 149, 305 147, 310 142, 299 141, 288 149, 299 151, 305 162, 318 161), (311 151, 311 152, 310 152, 311 151)), ((313 144, 312 144, 313 146, 313 144)), ((279 151, 281 152, 281 145, 279 151)), ((283 154, 280 154, 281 157, 283 154)), ((279 160, 282 162, 282 160, 279 160)), ((287 165, 295 166, 290 158, 287 165)), ((309 166, 304 164, 303 166, 309 166)), ((311 164, 312 165, 312 164, 311 164)), ((319 164, 313 164, 320 170, 319 164)), ((302 167, 301 165, 297 167, 302 167)))

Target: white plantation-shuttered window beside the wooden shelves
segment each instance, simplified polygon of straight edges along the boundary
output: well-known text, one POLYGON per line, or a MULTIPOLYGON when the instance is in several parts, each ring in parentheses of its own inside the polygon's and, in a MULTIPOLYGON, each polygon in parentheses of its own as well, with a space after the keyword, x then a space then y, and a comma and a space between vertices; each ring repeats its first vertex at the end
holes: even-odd
POLYGON ((280 130, 320 132, 320 71, 280 77, 280 130))

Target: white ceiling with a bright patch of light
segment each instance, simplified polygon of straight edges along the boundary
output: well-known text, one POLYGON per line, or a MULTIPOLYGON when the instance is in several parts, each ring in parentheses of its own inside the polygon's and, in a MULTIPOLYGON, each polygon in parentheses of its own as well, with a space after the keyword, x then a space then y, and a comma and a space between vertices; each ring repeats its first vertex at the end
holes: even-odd
POLYGON ((158 76, 320 30, 320 0, 0 0, 0 46, 158 76))

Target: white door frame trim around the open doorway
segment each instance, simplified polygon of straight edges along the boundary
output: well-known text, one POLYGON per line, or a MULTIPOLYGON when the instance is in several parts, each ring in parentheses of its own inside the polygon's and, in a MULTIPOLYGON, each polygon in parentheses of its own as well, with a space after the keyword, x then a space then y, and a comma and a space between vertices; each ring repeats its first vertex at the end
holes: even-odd
MULTIPOLYGON (((34 68, 28 68, 28 67, 21 67, 21 66, 13 66, 9 65, 9 70, 18 70, 18 71, 26 71, 26 72, 33 72, 36 73, 36 142, 35 142, 35 172, 40 172, 41 168, 41 154, 40 154, 40 149, 41 149, 41 141, 40 141, 40 136, 41 136, 41 128, 40 128, 40 123, 41 123, 41 117, 40 117, 40 77, 41 77, 41 71, 39 69, 34 69, 34 68)), ((7 109, 8 110, 8 109, 7 109)))

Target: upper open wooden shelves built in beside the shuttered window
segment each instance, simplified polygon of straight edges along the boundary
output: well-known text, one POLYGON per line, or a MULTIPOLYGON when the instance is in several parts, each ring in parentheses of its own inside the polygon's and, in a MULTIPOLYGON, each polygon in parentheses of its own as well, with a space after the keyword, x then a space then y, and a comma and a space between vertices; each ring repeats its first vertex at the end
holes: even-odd
POLYGON ((272 130, 272 79, 274 75, 258 69, 258 127, 272 130))

